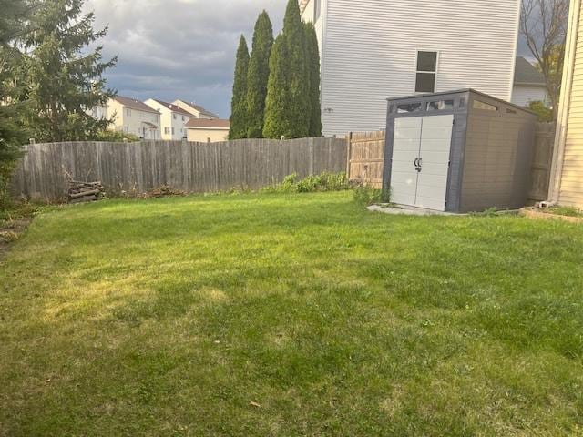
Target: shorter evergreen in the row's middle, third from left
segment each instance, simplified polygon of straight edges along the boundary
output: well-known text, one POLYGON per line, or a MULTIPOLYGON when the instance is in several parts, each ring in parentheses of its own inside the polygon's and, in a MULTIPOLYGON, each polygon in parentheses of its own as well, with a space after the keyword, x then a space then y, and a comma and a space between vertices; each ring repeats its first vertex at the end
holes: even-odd
POLYGON ((285 62, 287 47, 285 38, 275 38, 270 56, 270 78, 265 99, 265 124, 263 137, 279 139, 292 137, 288 105, 290 103, 289 70, 285 62))

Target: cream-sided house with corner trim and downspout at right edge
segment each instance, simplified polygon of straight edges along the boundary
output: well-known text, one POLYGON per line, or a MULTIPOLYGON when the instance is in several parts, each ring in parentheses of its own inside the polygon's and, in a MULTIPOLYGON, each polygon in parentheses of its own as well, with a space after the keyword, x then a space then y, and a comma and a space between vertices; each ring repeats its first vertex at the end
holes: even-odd
POLYGON ((571 0, 548 200, 583 208, 583 7, 571 0))

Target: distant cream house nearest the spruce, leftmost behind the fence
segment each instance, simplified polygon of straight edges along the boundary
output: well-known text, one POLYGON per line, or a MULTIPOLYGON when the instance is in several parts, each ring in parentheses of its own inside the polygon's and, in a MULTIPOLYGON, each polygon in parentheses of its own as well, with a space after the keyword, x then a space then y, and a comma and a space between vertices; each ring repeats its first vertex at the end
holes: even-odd
POLYGON ((95 107, 94 117, 114 117, 112 130, 144 139, 160 139, 160 114, 134 98, 116 96, 106 107, 95 107))

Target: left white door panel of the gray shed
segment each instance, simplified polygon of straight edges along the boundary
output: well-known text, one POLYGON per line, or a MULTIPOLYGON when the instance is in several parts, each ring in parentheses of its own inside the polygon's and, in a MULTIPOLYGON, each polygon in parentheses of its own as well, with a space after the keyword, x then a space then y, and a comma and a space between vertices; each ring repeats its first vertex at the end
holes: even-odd
POLYGON ((391 167, 391 201, 414 205, 422 117, 397 118, 394 121, 393 161, 391 167))

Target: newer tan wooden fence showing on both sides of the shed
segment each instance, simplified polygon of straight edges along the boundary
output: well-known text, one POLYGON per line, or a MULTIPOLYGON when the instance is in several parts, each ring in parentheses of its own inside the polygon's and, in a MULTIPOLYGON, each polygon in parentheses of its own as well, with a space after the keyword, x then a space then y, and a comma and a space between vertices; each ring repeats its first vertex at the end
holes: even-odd
MULTIPOLYGON (((348 178, 374 188, 383 188, 384 131, 351 133, 347 142, 348 178)), ((554 143, 555 124, 538 123, 529 191, 529 198, 533 201, 547 199, 554 143)))

